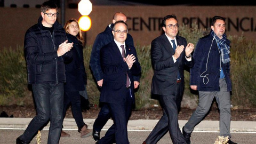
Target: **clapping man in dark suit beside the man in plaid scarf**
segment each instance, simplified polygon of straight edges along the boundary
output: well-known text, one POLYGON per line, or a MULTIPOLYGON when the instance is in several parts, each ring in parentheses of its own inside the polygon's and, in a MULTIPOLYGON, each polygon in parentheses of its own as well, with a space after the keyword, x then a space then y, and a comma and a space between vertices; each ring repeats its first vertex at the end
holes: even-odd
POLYGON ((151 91, 159 98, 163 116, 143 144, 157 143, 168 131, 173 143, 185 144, 178 124, 177 99, 183 92, 184 67, 193 67, 191 52, 194 44, 187 44, 185 38, 177 35, 179 25, 175 15, 164 17, 162 28, 165 34, 151 43, 154 68, 151 91))

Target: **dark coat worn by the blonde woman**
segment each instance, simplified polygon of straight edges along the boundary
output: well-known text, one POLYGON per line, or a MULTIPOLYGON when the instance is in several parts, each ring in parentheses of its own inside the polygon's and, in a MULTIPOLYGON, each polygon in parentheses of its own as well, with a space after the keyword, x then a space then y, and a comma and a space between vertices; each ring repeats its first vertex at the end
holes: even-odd
POLYGON ((65 63, 66 83, 64 89, 67 92, 84 91, 87 81, 84 59, 83 45, 78 39, 70 34, 67 34, 68 42, 73 42, 73 48, 70 52, 73 54, 73 60, 65 63))

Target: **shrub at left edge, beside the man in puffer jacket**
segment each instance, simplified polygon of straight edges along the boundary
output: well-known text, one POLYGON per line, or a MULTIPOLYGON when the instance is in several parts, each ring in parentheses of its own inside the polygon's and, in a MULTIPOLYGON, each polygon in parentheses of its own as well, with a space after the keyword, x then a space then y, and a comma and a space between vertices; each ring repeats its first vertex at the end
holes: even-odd
POLYGON ((23 47, 4 47, 0 54, 0 105, 33 103, 27 84, 27 66, 23 47))

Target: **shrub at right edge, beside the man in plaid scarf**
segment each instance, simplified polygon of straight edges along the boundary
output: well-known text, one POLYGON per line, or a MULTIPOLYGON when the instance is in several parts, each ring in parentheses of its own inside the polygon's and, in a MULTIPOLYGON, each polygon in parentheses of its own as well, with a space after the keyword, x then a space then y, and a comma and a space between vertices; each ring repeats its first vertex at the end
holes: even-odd
POLYGON ((231 40, 231 100, 235 105, 256 106, 256 45, 242 36, 229 36, 231 40))

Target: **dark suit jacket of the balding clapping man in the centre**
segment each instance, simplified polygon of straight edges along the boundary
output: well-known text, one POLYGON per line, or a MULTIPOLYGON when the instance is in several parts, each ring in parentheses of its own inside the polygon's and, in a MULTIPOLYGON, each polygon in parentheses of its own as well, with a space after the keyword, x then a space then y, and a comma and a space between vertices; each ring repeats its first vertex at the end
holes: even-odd
POLYGON ((126 55, 135 55, 135 62, 131 69, 123 61, 123 57, 114 40, 100 50, 101 68, 103 71, 103 84, 100 93, 100 101, 118 103, 124 100, 126 94, 126 71, 131 81, 131 94, 134 97, 133 75, 140 74, 140 63, 134 46, 125 45, 126 55))

